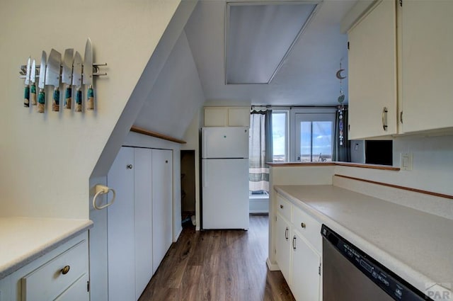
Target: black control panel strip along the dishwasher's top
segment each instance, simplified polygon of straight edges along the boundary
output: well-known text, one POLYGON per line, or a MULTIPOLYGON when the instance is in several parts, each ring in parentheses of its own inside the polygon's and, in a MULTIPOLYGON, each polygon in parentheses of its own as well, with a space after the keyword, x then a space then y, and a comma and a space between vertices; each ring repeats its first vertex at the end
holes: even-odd
POLYGON ((330 242, 337 251, 340 252, 357 269, 365 274, 370 280, 376 283, 394 300, 401 301, 420 301, 432 300, 413 285, 406 282, 395 273, 386 268, 381 263, 365 254, 348 240, 341 237, 326 225, 321 227, 321 235, 330 242))

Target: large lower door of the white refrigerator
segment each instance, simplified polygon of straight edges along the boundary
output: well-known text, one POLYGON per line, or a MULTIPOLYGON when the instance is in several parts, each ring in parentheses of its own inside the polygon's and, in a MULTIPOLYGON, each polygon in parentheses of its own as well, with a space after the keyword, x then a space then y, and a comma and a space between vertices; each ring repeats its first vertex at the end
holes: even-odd
POLYGON ((202 160, 203 229, 248 229, 248 159, 202 160))

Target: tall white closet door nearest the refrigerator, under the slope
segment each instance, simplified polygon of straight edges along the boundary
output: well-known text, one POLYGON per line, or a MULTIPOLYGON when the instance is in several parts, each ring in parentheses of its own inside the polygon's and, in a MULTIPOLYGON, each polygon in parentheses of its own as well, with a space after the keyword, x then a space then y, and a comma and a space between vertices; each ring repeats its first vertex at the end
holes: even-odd
POLYGON ((152 150, 153 274, 171 246, 173 232, 173 152, 152 150))

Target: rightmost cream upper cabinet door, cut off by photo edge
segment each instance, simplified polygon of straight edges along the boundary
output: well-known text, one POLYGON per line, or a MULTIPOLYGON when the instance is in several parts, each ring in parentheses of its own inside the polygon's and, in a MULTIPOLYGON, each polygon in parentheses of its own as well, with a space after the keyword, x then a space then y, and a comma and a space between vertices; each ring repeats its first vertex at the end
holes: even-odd
POLYGON ((403 131, 453 127, 453 1, 403 1, 403 131))

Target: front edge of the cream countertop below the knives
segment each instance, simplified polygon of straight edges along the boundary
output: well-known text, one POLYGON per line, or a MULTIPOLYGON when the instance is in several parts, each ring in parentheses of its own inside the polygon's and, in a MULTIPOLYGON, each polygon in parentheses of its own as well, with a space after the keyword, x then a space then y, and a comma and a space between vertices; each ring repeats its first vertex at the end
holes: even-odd
POLYGON ((74 229, 71 229, 71 231, 65 233, 63 237, 52 239, 50 242, 42 244, 41 246, 38 246, 38 248, 33 249, 33 251, 30 251, 27 254, 18 257, 18 259, 11 262, 11 264, 1 266, 0 279, 11 275, 12 273, 18 271, 20 268, 26 266, 28 263, 34 261, 35 259, 40 258, 41 256, 54 249, 57 249, 58 246, 61 246, 62 244, 68 242, 70 239, 85 232, 91 227, 93 227, 93 222, 91 220, 81 220, 81 225, 79 225, 79 227, 74 227, 74 229))

